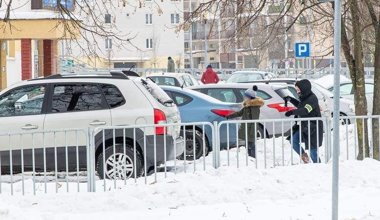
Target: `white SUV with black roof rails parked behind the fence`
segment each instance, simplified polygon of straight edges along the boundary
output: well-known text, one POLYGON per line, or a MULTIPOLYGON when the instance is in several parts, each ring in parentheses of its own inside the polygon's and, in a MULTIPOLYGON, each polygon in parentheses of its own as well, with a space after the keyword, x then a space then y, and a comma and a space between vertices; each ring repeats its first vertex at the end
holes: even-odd
MULTIPOLYGON (((159 123, 180 123, 177 106, 169 96, 151 80, 128 78, 121 72, 56 74, 20 82, 0 92, 0 133, 55 130, 63 128, 84 128, 98 126, 146 125, 159 123)), ((180 126, 125 129, 126 151, 124 154, 124 130, 105 130, 105 161, 125 159, 127 166, 123 175, 112 173, 113 166, 106 166, 106 178, 133 176, 133 137, 136 143, 136 176, 147 169, 164 162, 164 137, 166 138, 167 160, 180 156, 183 152, 183 138, 179 136, 180 126), (156 135, 156 160, 154 160, 154 130, 156 135), (145 135, 144 135, 145 131, 145 135), (164 132, 166 133, 164 135, 164 132), (133 134, 134 133, 134 134, 133 134), (115 137, 114 137, 115 134, 115 137), (115 140, 115 143, 114 143, 115 140), (173 142, 176 142, 174 145, 173 142), (144 144, 146 153, 144 154, 144 144), (114 146, 115 145, 115 150, 114 146), (176 146, 176 155, 173 147, 176 146), (120 157, 120 158, 118 158, 120 157), (146 159, 144 161, 144 159, 146 159), (108 172, 110 171, 110 172, 108 172)), ((1 170, 10 168, 10 147, 12 168, 21 170, 20 136, 0 136, 1 170)), ((32 170, 32 135, 23 135, 24 170, 32 170)), ((75 132, 33 135, 34 166, 36 171, 44 169, 45 146, 46 169, 66 170, 86 169, 86 136, 75 132), (56 141, 54 135, 57 136, 56 141), (77 136, 77 142, 76 142, 77 136), (66 140, 65 140, 66 139, 66 140), (43 143, 45 142, 45 143, 43 143), (78 159, 76 159, 76 146, 78 159), (57 165, 55 164, 57 147, 57 165), (65 146, 68 146, 66 152, 65 146), (67 154, 66 154, 67 153, 67 154)), ((98 173, 103 173, 103 132, 95 135, 95 160, 98 173)), ((2 173, 3 173, 2 172, 2 173)), ((100 175, 102 178, 103 176, 100 175)))

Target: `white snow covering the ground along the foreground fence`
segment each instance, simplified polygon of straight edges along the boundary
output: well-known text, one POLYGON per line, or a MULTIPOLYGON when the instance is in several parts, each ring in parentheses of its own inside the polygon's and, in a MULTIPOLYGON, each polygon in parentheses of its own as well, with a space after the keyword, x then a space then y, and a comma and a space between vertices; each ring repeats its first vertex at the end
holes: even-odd
MULTIPOLYGON (((342 127, 343 128, 343 127, 342 127)), ((87 184, 54 183, 49 178, 47 194, 44 183, 36 184, 33 195, 32 180, 26 180, 25 196, 21 182, 13 184, 14 196, 8 195, 10 184, 2 183, 0 195, 1 220, 327 220, 331 218, 331 161, 327 164, 293 165, 290 145, 282 138, 258 142, 258 169, 248 158, 245 148, 221 152, 221 167, 212 168, 212 156, 177 161, 177 174, 157 173, 145 179, 124 181, 98 180, 96 193, 88 193, 87 184), (284 149, 284 153, 283 153, 284 149), (229 165, 228 166, 228 155, 229 165), (239 155, 239 168, 237 158, 239 155), (275 155, 273 157, 273 155, 275 155), (283 160, 284 157, 284 160, 283 160), (266 160, 265 160, 266 158, 266 160), (275 168, 273 167, 275 158, 275 168), (283 165, 284 161, 284 165, 283 165), (268 169, 264 169, 266 166, 268 169), (205 170, 203 170, 205 166, 205 170), (116 184, 116 189, 114 189, 116 184), (58 194, 55 193, 57 186, 58 194)), ((380 163, 372 159, 346 160, 355 157, 353 127, 341 131, 340 209, 342 220, 380 219, 380 163), (348 136, 348 139, 346 139, 348 136), (348 147, 346 143, 348 142, 348 147)), ((324 147, 320 148, 324 161, 324 147)), ((299 157, 293 153, 293 164, 299 157)), ((171 162, 168 166, 173 165, 171 162)), ((64 178, 64 177, 62 177, 64 178)))

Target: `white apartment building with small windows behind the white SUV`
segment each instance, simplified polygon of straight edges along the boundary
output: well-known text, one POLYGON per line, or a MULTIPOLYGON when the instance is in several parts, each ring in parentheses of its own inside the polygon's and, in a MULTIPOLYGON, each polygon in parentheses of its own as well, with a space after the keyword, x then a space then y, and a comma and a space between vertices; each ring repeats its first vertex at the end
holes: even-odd
POLYGON ((115 36, 88 38, 94 51, 72 50, 72 56, 97 68, 167 68, 171 56, 176 68, 184 67, 184 34, 176 29, 183 19, 180 0, 135 1, 126 6, 119 0, 106 2, 94 7, 93 13, 107 35, 115 36))

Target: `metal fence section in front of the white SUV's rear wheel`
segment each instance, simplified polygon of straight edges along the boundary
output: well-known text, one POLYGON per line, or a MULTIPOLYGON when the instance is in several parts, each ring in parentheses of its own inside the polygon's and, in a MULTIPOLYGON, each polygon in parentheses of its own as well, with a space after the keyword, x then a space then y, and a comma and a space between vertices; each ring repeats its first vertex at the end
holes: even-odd
MULTIPOLYGON (((143 176, 144 184, 148 184, 149 174, 154 175, 156 182, 158 168, 164 172, 164 178, 169 171, 176 174, 180 167, 186 173, 190 169, 188 160, 192 161, 194 172, 196 160, 201 157, 205 170, 208 149, 213 149, 215 144, 214 126, 209 122, 98 127, 90 134, 92 191, 96 191, 96 176, 103 179, 103 191, 106 191, 106 179, 111 179, 116 189, 117 180, 123 180, 126 185, 128 178, 134 178, 136 183, 143 176), (191 144, 197 147, 191 149, 191 144), (158 167, 160 164, 163 167, 158 167)), ((214 158, 213 152, 212 155, 214 158)))

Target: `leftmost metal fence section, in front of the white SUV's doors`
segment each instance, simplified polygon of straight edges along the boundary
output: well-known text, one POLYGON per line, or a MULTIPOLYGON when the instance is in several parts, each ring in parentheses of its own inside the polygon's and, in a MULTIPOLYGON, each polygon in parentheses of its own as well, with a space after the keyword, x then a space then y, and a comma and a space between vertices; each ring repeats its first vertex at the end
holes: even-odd
POLYGON ((39 187, 47 193, 47 183, 52 181, 56 193, 62 182, 66 182, 67 192, 69 185, 76 183, 79 192, 80 182, 88 182, 81 173, 88 167, 88 137, 84 129, 0 133, 0 193, 5 187, 11 195, 15 190, 25 195, 25 182, 29 179, 34 195, 39 187))

